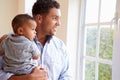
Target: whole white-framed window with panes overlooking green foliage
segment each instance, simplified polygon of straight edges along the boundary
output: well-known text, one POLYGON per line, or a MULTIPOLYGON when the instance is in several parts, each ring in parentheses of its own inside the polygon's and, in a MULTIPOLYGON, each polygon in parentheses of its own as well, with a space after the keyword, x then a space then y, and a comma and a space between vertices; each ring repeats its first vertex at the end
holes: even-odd
POLYGON ((116 0, 82 0, 81 79, 112 80, 116 0))

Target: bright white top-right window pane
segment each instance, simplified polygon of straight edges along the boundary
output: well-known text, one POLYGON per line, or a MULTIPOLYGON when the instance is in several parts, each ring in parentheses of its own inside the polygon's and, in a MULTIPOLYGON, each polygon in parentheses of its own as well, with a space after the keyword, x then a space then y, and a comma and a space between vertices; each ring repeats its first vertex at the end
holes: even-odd
POLYGON ((102 0, 101 2, 101 22, 110 22, 115 15, 116 0, 102 0))

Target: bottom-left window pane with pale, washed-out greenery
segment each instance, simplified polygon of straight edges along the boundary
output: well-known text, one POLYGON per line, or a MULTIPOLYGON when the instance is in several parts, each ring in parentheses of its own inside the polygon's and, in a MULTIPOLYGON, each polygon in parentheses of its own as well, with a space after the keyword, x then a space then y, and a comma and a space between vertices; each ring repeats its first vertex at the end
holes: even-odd
POLYGON ((85 80, 95 80, 95 62, 86 60, 85 80))

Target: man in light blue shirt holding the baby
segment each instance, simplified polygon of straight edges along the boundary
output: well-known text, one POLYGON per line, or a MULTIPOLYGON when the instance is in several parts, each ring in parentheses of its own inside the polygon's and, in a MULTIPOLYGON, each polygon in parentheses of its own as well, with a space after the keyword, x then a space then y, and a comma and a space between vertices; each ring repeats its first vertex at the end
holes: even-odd
POLYGON ((41 66, 36 67, 31 74, 21 76, 1 70, 0 80, 72 80, 69 54, 64 43, 54 36, 60 26, 59 3, 55 0, 37 0, 32 14, 37 22, 35 42, 41 51, 41 66))

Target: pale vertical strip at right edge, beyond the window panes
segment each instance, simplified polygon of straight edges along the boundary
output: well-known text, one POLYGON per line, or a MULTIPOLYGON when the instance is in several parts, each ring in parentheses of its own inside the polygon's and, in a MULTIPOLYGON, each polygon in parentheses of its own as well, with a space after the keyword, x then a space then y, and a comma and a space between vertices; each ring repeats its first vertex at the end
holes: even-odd
POLYGON ((112 80, 120 80, 120 0, 116 2, 112 80))

